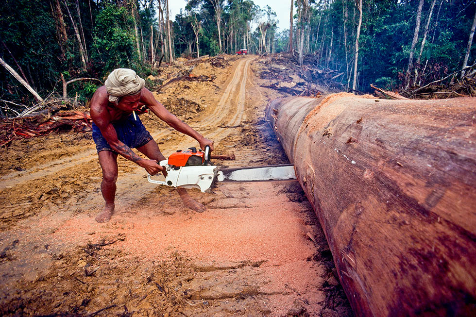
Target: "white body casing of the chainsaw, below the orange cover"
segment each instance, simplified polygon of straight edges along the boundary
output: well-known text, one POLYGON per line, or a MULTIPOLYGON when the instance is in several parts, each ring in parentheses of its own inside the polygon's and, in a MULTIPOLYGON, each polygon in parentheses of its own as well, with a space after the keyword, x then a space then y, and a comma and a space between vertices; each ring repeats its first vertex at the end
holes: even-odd
POLYGON ((153 180, 151 175, 147 180, 153 184, 166 185, 170 187, 199 188, 203 193, 210 188, 215 176, 218 173, 216 166, 183 166, 171 168, 168 160, 160 161, 160 166, 166 168, 167 177, 165 181, 153 180))

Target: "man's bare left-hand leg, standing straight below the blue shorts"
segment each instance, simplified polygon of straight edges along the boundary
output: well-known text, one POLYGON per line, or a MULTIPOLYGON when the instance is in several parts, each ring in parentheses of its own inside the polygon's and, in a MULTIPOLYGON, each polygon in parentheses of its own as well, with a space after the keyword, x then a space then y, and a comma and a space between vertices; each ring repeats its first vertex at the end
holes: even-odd
POLYGON ((118 179, 118 154, 103 150, 98 153, 99 164, 102 168, 101 192, 105 205, 96 217, 97 222, 106 222, 114 213, 114 198, 116 196, 116 181, 118 179))

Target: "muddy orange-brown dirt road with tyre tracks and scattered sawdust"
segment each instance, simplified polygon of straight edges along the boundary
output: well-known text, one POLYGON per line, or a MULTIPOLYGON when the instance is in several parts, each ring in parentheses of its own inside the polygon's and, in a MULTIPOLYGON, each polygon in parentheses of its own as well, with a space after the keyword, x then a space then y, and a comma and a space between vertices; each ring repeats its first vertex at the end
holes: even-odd
MULTIPOLYGON (((281 95, 259 86, 255 62, 204 63, 194 71, 214 72, 214 83, 174 83, 156 95, 200 106, 183 119, 215 141, 216 153, 237 156, 215 164, 287 163, 263 116, 281 95)), ((166 156, 197 146, 150 115, 141 119, 166 156)), ((116 213, 99 224, 101 169, 89 135, 17 142, 1 156, 2 315, 351 315, 297 182, 191 190, 207 207, 198 214, 119 158, 116 213)))

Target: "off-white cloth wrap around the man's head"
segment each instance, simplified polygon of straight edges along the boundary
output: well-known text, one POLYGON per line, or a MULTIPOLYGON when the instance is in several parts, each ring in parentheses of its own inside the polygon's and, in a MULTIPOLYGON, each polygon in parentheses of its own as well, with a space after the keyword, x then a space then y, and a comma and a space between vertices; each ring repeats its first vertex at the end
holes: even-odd
POLYGON ((109 101, 118 103, 119 97, 136 95, 145 86, 145 81, 136 75, 136 72, 129 68, 114 69, 106 82, 109 101))

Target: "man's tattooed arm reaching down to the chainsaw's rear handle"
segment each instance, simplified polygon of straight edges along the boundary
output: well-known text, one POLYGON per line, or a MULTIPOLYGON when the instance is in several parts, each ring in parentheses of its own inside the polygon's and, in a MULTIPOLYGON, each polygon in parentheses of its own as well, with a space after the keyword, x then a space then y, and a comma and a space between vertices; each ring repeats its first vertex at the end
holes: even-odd
POLYGON ((111 146, 111 149, 115 150, 126 159, 136 163, 140 167, 145 168, 145 170, 151 175, 155 175, 161 171, 163 167, 160 167, 156 160, 147 160, 141 158, 131 148, 119 141, 116 129, 114 129, 114 126, 111 123, 111 116, 107 111, 107 101, 105 104, 101 104, 100 100, 102 100, 102 98, 95 97, 98 96, 95 94, 95 96, 93 96, 91 99, 91 118, 98 126, 102 136, 111 146))

